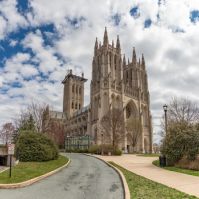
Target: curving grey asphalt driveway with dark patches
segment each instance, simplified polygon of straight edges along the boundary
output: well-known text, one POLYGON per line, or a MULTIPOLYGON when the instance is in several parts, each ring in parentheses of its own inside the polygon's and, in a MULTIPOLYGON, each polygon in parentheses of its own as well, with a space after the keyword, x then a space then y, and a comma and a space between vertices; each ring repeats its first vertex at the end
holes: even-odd
POLYGON ((67 154, 70 165, 38 183, 19 189, 1 189, 6 199, 123 199, 116 171, 86 155, 67 154))

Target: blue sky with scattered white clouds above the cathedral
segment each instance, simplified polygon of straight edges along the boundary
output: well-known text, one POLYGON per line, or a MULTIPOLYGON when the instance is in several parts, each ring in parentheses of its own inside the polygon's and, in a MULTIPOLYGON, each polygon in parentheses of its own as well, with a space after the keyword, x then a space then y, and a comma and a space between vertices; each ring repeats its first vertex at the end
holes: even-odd
POLYGON ((154 141, 171 97, 199 100, 199 0, 0 0, 0 125, 31 101, 62 111, 69 69, 88 78, 96 37, 145 56, 154 141))

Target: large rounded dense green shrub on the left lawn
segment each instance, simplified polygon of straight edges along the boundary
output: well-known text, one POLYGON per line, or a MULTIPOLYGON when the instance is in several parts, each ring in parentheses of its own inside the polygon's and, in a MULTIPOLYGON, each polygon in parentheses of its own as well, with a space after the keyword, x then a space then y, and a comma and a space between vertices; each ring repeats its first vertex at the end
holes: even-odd
POLYGON ((20 161, 48 161, 58 158, 53 141, 41 133, 22 132, 16 143, 16 156, 20 161))

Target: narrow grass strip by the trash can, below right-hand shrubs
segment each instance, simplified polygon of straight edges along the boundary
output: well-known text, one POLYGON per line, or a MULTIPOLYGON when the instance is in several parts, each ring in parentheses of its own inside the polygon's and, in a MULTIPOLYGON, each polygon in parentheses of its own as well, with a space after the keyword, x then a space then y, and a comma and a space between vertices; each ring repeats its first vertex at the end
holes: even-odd
MULTIPOLYGON (((158 166, 160 167, 160 164, 159 164, 159 160, 155 160, 153 161, 153 164, 155 166, 158 166)), ((185 174, 188 174, 188 175, 193 175, 193 176, 199 176, 199 171, 195 171, 195 170, 190 170, 190 169, 182 169, 182 168, 179 168, 179 167, 161 167, 163 169, 166 169, 166 170, 169 170, 169 171, 175 171, 175 172, 179 172, 179 173, 185 173, 185 174)))

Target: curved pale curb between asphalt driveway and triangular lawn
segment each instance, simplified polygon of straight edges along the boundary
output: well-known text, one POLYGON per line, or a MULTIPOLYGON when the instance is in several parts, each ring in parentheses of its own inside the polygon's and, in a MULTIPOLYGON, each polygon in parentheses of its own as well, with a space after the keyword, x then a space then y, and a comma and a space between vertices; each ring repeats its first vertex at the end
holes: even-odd
POLYGON ((90 155, 90 154, 86 154, 86 153, 84 153, 84 155, 87 155, 87 156, 90 156, 90 157, 94 157, 94 158, 96 158, 98 160, 101 160, 102 162, 107 164, 109 167, 113 168, 117 172, 117 174, 119 175, 120 180, 122 181, 122 186, 123 186, 123 190, 124 190, 124 199, 130 199, 131 198, 130 197, 129 187, 128 187, 128 184, 126 182, 126 179, 125 179, 123 173, 118 168, 114 167, 112 164, 106 162, 105 160, 103 160, 103 159, 101 159, 99 157, 96 157, 96 156, 93 156, 93 155, 90 155))

